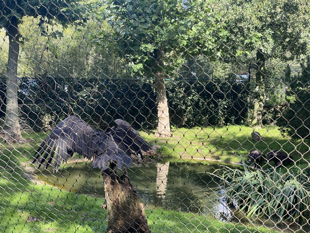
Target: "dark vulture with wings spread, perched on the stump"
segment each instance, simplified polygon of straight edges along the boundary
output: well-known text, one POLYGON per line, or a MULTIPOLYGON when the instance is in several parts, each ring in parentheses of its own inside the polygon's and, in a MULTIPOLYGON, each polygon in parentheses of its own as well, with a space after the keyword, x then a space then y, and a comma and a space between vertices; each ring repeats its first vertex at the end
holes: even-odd
POLYGON ((70 116, 61 121, 39 146, 32 163, 39 162, 47 168, 54 159, 54 170, 66 162, 73 153, 91 160, 94 167, 103 170, 109 165, 122 168, 131 163, 131 153, 150 150, 150 145, 126 121, 115 120, 117 126, 95 130, 78 117, 70 116))

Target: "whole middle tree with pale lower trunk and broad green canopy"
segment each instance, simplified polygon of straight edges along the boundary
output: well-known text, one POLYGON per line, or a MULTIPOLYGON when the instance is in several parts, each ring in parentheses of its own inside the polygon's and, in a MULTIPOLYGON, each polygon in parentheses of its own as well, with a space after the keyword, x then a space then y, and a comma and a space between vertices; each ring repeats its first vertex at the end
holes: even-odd
POLYGON ((107 5, 97 18, 106 20, 108 27, 91 39, 108 53, 126 59, 133 77, 143 75, 153 80, 158 108, 156 135, 171 136, 165 75, 173 76, 186 59, 220 51, 220 35, 225 31, 216 20, 218 16, 205 1, 122 0, 107 5))

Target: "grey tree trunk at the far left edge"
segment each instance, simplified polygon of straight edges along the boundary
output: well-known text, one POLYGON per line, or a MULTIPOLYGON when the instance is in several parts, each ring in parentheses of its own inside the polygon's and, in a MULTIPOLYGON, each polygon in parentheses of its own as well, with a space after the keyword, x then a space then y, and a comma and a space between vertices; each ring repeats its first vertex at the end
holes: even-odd
POLYGON ((3 127, 4 139, 8 143, 21 140, 20 124, 18 121, 18 83, 17 83, 17 62, 19 56, 19 34, 18 34, 18 19, 11 17, 11 23, 7 27, 9 35, 9 56, 7 61, 7 106, 5 114, 5 125, 3 127))

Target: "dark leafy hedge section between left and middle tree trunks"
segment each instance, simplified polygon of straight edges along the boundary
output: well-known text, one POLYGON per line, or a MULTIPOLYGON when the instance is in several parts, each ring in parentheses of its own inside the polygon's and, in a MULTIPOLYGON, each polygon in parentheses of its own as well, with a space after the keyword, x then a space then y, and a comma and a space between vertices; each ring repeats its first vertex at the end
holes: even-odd
POLYGON ((74 114, 101 128, 117 118, 134 122, 137 128, 141 127, 137 122, 150 126, 156 120, 156 96, 149 83, 122 80, 116 84, 111 80, 81 79, 65 82, 63 86, 41 88, 34 97, 32 104, 23 107, 32 122, 30 125, 37 126, 34 129, 44 124, 42 119, 46 115, 59 122, 74 114))

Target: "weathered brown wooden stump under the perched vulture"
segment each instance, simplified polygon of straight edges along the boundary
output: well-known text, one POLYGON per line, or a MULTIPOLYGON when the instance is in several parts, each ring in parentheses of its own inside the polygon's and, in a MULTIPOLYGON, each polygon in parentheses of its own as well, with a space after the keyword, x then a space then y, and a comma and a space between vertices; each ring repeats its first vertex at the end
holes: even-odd
POLYGON ((116 171, 104 170, 105 204, 108 233, 151 233, 143 204, 130 183, 126 170, 122 176, 116 171))

